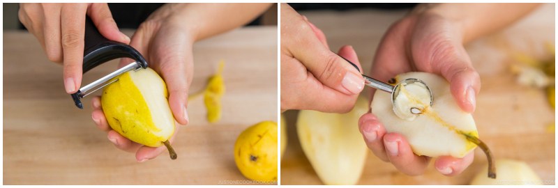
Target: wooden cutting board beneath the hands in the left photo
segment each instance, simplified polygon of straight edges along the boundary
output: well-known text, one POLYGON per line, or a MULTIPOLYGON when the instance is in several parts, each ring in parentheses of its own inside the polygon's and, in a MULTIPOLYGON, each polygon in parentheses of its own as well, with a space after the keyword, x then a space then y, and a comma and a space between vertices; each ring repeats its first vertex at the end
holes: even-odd
MULTIPOLYGON (((131 31, 126 31, 131 36, 131 31)), ((36 39, 3 32, 4 185, 218 185, 246 182, 236 169, 236 137, 262 120, 277 121, 277 27, 256 26, 197 42, 196 93, 225 61, 223 117, 206 121, 203 99, 190 101, 190 124, 167 152, 144 163, 121 151, 91 120, 90 98, 77 109, 63 88, 62 67, 50 63, 36 39), (228 181, 227 181, 228 180, 228 181)), ((116 61, 87 72, 89 84, 116 61)), ((249 183, 249 182, 248 182, 249 183)))

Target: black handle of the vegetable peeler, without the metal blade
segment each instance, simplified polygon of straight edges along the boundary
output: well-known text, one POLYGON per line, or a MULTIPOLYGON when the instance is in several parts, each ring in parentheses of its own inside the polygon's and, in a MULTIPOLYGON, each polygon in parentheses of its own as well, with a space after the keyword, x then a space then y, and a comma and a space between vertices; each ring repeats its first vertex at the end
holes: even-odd
MULTIPOLYGON (((105 38, 99 33, 91 18, 87 16, 85 18, 84 42, 83 73, 115 58, 132 58, 142 68, 147 68, 147 61, 140 52, 137 52, 130 45, 105 38)), ((81 94, 82 91, 78 90, 76 93, 71 94, 71 96, 75 105, 83 109, 83 104, 80 100, 81 94)))

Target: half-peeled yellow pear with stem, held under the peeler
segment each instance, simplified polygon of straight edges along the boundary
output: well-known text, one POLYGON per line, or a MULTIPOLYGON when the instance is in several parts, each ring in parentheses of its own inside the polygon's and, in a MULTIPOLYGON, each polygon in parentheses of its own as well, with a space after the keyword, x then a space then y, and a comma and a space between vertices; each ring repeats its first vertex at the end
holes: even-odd
POLYGON ((128 71, 114 79, 101 95, 112 130, 144 146, 165 145, 171 159, 176 159, 168 141, 174 134, 174 117, 165 81, 151 68, 128 71))

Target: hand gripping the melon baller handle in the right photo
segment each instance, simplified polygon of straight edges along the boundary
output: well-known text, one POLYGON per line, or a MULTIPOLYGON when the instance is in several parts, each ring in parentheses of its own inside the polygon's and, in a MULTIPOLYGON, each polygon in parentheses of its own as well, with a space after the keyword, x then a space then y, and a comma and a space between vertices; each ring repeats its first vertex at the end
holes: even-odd
POLYGON ((281 111, 350 111, 363 87, 359 59, 350 46, 330 51, 324 33, 286 3, 281 4, 281 111))

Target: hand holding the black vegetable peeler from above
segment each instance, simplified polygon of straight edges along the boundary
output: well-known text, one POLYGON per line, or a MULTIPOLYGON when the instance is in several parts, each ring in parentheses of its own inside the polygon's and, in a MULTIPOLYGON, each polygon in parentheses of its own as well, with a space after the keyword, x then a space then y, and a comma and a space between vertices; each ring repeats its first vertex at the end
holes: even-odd
POLYGON ((19 17, 43 46, 50 61, 62 63, 66 92, 75 93, 82 83, 85 16, 109 40, 128 44, 112 19, 107 3, 21 3, 19 17))

